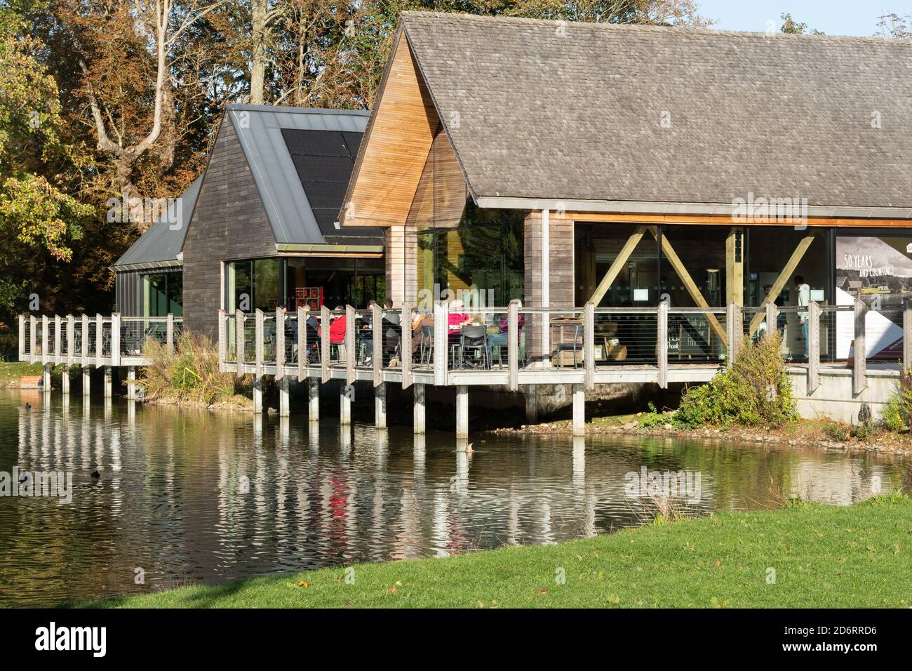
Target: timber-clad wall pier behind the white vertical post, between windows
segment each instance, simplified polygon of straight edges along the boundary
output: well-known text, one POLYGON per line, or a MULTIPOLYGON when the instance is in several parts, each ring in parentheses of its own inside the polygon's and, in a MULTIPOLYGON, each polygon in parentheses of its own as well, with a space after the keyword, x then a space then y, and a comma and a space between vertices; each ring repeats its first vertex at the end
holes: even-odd
MULTIPOLYGON (((573 219, 555 212, 548 216, 548 240, 551 254, 550 300, 549 305, 565 307, 574 304, 574 234, 573 219)), ((529 212, 525 215, 525 300, 529 308, 542 307, 542 213, 529 212)), ((542 357, 541 322, 538 318, 527 320, 525 334, 526 351, 532 359, 542 357)), ((552 348, 554 343, 552 342, 552 348)))

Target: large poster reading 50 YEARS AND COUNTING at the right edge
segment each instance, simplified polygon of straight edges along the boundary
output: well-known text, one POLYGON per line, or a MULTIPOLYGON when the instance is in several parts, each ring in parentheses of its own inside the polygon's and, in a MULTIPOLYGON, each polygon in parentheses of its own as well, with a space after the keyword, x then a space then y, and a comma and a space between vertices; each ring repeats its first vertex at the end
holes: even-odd
MULTIPOLYGON (((836 238, 836 305, 861 299, 867 358, 902 357, 902 304, 912 296, 912 239, 839 236, 836 238)), ((846 359, 855 339, 852 312, 836 313, 836 357, 846 359)))

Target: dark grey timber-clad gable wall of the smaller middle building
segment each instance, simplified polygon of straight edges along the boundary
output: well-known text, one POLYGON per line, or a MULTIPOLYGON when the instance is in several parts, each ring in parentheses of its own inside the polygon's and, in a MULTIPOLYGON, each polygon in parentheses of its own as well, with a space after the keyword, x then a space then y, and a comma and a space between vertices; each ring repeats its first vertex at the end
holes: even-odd
POLYGON ((273 229, 226 114, 183 245, 184 327, 214 337, 222 307, 222 261, 275 256, 273 229))

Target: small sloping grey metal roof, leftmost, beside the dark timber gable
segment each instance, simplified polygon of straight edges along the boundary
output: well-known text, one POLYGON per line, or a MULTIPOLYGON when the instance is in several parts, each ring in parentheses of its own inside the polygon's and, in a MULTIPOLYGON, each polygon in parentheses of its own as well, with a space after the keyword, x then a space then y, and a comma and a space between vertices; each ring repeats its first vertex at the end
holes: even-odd
POLYGON ((116 270, 131 267, 166 267, 180 265, 178 255, 190 228, 193 208, 200 194, 202 176, 175 199, 167 212, 149 227, 112 266, 116 270))

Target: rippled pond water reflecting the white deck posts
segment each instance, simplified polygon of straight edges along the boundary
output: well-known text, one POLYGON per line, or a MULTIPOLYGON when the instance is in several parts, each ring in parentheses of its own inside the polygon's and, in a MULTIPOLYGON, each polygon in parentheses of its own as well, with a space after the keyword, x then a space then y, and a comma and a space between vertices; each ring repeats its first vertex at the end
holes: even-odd
POLYGON ((799 494, 848 504, 910 478, 900 459, 770 446, 473 441, 468 457, 451 434, 418 438, 409 427, 340 433, 331 420, 311 428, 306 417, 0 391, 0 472, 73 476, 66 505, 0 497, 0 605, 592 536, 654 514, 625 479, 642 467, 699 474, 699 497, 681 505, 703 514, 799 494))

